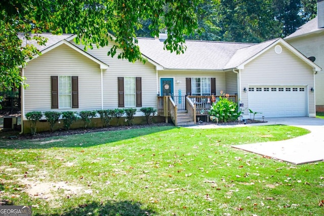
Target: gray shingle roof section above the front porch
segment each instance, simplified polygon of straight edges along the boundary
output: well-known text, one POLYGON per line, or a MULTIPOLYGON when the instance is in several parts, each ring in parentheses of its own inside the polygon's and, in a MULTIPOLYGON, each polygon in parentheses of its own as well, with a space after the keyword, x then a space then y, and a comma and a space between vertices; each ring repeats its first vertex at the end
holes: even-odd
POLYGON ((164 50, 158 39, 139 38, 138 45, 144 56, 166 69, 223 70, 237 50, 254 44, 186 41, 187 50, 180 55, 164 50))

